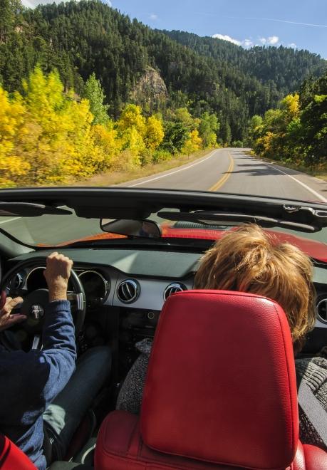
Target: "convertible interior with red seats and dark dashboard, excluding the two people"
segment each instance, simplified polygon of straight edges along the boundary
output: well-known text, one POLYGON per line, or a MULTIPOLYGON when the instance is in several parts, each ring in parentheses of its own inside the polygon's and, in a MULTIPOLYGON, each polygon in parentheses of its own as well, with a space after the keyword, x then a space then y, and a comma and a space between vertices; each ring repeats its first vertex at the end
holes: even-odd
MULTIPOLYGON (((110 381, 65 461, 49 462, 51 470, 327 468, 326 452, 299 441, 294 352, 281 307, 251 294, 193 289, 199 258, 233 226, 256 222, 276 236, 285 230, 286 239, 303 237, 312 253, 317 320, 301 355, 316 355, 327 339, 327 249, 316 239, 327 226, 324 204, 122 188, 1 193, 0 216, 25 227, 35 221, 41 235, 51 218, 65 219, 64 211, 74 214, 67 214, 69 233, 80 219, 98 226, 65 240, 57 227, 57 243, 46 244, 0 224, 1 290, 22 296, 28 315, 1 341, 41 347, 43 311, 32 306, 46 303, 43 269, 56 249, 73 260, 68 300, 78 354, 109 345, 113 355, 110 381), (142 221, 152 231, 139 236, 142 221), (155 343, 138 417, 116 411, 115 402, 143 338, 155 343)), ((3 437, 0 466, 12 449, 3 437)), ((21 461, 16 468, 33 466, 21 461)))

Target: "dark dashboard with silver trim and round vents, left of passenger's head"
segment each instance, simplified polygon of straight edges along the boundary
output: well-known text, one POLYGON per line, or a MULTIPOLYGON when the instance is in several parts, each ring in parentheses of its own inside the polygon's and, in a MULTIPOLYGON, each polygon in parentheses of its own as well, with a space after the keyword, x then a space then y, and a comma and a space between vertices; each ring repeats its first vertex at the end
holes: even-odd
MULTIPOLYGON (((193 287, 200 257, 198 253, 133 249, 61 251, 73 259, 73 268, 85 289, 88 308, 108 305, 161 310, 170 293, 193 287)), ((50 253, 42 252, 45 257, 50 253)), ((40 252, 17 256, 11 260, 11 266, 36 256, 39 258, 40 252)), ((44 266, 16 273, 7 284, 7 291, 13 295, 21 289, 28 292, 46 288, 44 266)))

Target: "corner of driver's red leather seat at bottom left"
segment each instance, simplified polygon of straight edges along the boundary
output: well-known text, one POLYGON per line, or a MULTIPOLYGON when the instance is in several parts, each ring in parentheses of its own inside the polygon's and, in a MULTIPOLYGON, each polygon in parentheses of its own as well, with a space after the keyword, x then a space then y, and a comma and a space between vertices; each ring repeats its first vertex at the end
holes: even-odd
POLYGON ((36 466, 28 459, 28 456, 4 434, 0 434, 0 469, 37 470, 36 466))

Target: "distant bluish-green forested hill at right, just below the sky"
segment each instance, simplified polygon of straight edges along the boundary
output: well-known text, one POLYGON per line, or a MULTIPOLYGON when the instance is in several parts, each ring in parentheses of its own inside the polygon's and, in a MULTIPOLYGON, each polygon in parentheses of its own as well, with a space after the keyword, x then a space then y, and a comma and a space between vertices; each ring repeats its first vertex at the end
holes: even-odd
POLYGON ((222 39, 201 37, 185 31, 162 31, 196 53, 213 58, 217 67, 228 63, 261 83, 274 82, 277 90, 288 95, 299 90, 308 75, 318 78, 326 70, 327 61, 318 54, 284 46, 255 46, 244 49, 222 39))

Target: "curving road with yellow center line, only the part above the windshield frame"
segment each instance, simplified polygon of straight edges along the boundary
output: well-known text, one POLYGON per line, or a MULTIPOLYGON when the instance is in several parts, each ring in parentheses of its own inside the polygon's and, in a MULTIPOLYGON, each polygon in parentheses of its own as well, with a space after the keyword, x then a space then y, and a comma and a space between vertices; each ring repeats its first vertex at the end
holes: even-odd
POLYGON ((120 184, 125 187, 197 189, 327 202, 323 180, 263 162, 244 149, 213 150, 196 162, 120 184))

